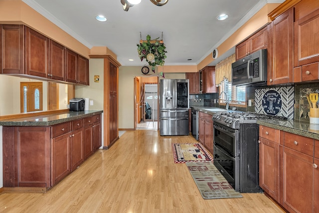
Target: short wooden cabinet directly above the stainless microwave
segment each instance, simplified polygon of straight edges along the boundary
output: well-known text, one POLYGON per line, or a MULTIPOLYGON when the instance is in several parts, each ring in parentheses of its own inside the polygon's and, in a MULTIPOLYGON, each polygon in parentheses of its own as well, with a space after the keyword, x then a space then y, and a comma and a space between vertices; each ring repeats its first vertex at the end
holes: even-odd
POLYGON ((268 28, 265 26, 249 38, 236 45, 236 60, 241 59, 260 49, 267 49, 268 45, 268 28))

